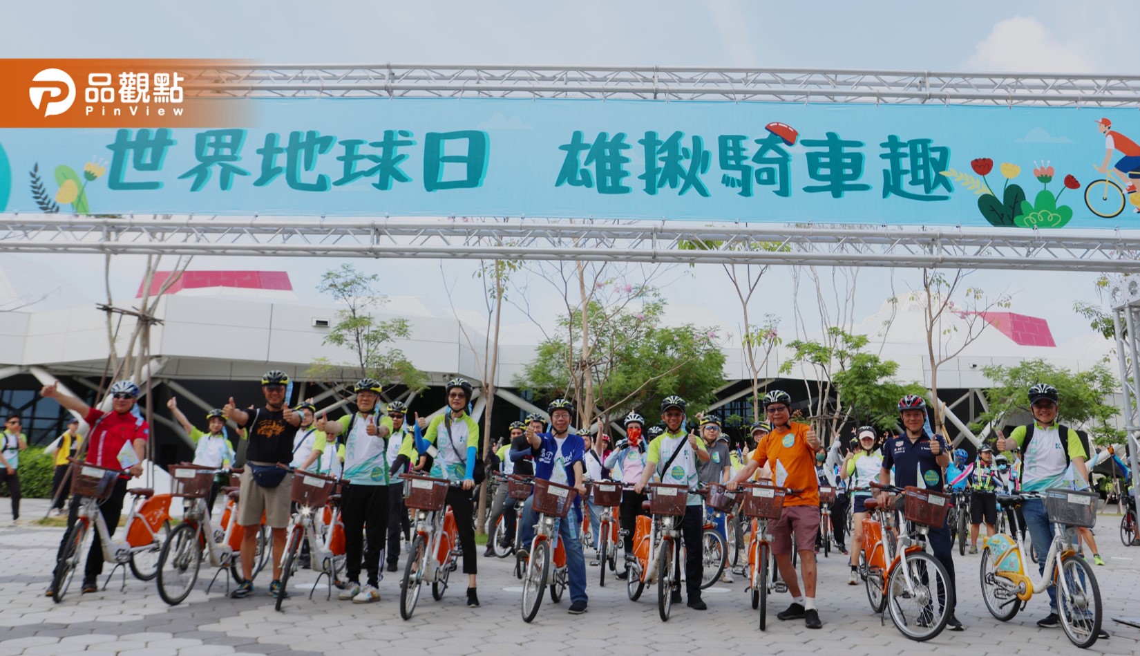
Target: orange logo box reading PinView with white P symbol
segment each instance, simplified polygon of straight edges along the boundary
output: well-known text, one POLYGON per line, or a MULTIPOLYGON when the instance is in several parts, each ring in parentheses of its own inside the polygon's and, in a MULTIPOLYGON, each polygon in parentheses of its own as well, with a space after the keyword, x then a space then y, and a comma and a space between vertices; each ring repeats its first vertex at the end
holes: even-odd
POLYGON ((221 59, 0 59, 0 128, 238 128, 221 59))

